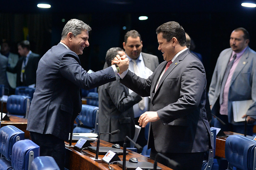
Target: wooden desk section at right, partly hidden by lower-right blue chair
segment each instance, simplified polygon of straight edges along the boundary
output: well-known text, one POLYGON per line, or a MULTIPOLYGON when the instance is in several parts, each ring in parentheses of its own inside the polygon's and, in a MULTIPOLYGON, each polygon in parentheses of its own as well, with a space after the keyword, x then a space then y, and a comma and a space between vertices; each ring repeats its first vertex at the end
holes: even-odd
POLYGON ((243 135, 235 132, 224 132, 226 136, 216 137, 216 149, 215 156, 225 158, 225 142, 228 136, 230 135, 243 135))

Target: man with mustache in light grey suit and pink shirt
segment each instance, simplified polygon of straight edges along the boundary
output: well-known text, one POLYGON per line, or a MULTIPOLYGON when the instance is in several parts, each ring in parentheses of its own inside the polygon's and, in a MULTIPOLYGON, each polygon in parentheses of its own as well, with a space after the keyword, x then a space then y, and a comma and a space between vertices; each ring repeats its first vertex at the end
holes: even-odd
MULTIPOLYGON (((256 114, 256 52, 248 46, 249 33, 244 28, 236 28, 230 35, 229 43, 231 48, 223 50, 217 60, 209 88, 209 101, 212 113, 226 123, 222 125, 216 120, 214 127, 244 134, 244 121, 234 122, 232 101, 252 99, 243 117, 256 114)), ((246 119, 248 135, 252 135, 255 119, 255 116, 246 119)))

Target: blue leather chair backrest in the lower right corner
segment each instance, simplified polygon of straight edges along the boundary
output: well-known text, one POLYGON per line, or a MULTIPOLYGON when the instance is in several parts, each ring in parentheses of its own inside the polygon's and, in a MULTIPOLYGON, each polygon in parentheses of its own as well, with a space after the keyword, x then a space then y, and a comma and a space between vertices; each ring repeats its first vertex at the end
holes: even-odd
POLYGON ((225 142, 225 157, 228 166, 252 170, 255 165, 256 141, 242 135, 228 136, 225 142))

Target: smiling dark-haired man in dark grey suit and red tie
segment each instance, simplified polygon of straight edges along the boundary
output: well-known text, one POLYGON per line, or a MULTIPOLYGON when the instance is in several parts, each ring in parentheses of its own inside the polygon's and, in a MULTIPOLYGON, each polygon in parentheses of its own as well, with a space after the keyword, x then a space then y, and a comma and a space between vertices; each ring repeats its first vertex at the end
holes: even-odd
MULTIPOLYGON (((164 23, 156 33, 165 61, 148 79, 128 70, 120 74, 120 82, 142 97, 150 96, 150 111, 139 119, 142 127, 150 122, 150 158, 160 152, 180 163, 180 169, 198 170, 204 152, 213 148, 204 108, 204 66, 186 47, 185 31, 179 23, 164 23)), ((159 162, 167 165, 163 159, 159 162)))

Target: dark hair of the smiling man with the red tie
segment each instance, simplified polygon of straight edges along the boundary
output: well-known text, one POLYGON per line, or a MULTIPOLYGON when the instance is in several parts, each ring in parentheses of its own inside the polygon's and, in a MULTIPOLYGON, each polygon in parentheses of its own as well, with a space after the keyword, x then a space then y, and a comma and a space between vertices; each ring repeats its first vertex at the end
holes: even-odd
POLYGON ((182 47, 186 46, 185 30, 178 22, 170 21, 160 25, 156 29, 156 34, 163 33, 163 38, 169 42, 176 37, 182 47))

